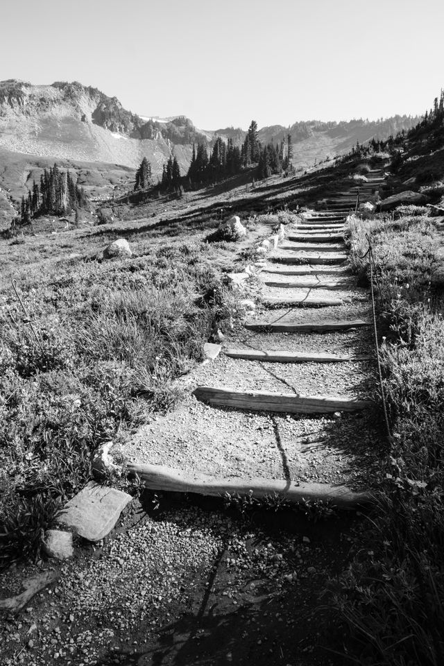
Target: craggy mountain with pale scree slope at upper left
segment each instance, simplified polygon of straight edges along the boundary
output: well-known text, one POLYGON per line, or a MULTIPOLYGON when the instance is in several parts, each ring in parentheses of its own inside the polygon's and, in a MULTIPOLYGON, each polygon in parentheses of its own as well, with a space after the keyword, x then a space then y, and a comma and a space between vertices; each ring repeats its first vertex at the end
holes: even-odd
POLYGON ((185 172, 197 138, 185 117, 147 122, 115 97, 80 83, 0 83, 0 147, 15 153, 127 167, 137 167, 146 155, 160 175, 172 148, 185 172))

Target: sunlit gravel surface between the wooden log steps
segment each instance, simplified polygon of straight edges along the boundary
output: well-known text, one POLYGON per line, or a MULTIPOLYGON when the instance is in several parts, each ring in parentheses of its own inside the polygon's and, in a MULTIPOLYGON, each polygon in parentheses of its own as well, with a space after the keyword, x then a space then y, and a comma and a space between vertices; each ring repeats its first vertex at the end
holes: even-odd
MULTIPOLYGON (((356 286, 355 278, 336 268, 340 289, 280 289, 260 287, 273 278, 265 262, 259 273, 259 292, 269 296, 339 296, 343 305, 334 307, 278 307, 259 305, 250 321, 311 322, 324 319, 370 321, 368 293, 356 286)), ((278 280, 286 278, 278 276, 278 280)), ((307 278, 304 278, 307 279, 307 278)), ((312 280, 313 278, 309 278, 312 280)), ((223 341, 226 348, 257 348, 289 352, 338 352, 373 355, 370 328, 344 332, 285 334, 250 331, 238 324, 223 341)), ((188 378, 180 406, 144 426, 131 442, 114 448, 114 455, 137 463, 152 463, 214 478, 262 477, 340 483, 352 488, 372 484, 378 468, 381 437, 374 414, 335 416, 278 415, 260 411, 237 411, 210 407, 196 400, 198 386, 230 390, 300 393, 368 399, 375 394, 375 364, 368 361, 341 363, 271 363, 233 359, 223 354, 196 368, 188 378)))

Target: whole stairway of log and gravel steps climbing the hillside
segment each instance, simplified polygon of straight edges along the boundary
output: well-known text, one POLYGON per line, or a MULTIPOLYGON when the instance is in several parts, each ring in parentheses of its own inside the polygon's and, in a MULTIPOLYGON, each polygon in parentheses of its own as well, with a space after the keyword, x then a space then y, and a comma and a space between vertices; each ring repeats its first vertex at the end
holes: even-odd
MULTIPOLYGON (((382 172, 372 176, 377 187, 382 172)), ((186 402, 139 436, 128 468, 148 487, 327 497, 347 508, 370 497, 379 438, 371 310, 347 264, 354 206, 336 196, 287 228, 256 273, 262 305, 196 372, 186 402), (317 442, 308 453, 307 441, 317 442)))

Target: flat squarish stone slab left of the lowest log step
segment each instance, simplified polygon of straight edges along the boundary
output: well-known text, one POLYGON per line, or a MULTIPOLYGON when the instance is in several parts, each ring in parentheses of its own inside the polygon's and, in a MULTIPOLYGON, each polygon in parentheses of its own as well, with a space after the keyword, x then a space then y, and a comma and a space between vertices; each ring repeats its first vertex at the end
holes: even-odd
POLYGON ((88 541, 100 541, 110 533, 119 515, 133 497, 115 488, 89 481, 69 500, 56 522, 66 525, 88 541))

